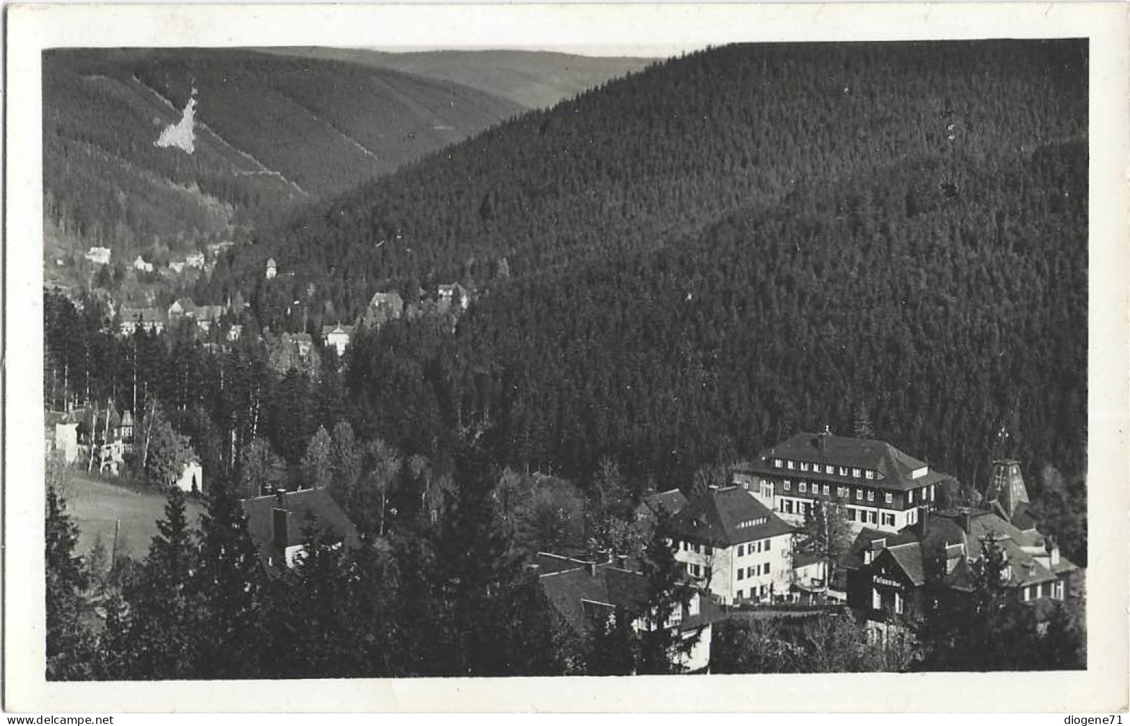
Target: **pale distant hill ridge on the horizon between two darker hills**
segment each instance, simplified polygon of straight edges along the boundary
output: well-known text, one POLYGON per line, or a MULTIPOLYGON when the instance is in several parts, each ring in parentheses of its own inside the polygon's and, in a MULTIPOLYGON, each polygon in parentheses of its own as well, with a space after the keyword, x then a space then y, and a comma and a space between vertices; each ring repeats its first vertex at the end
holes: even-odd
POLYGON ((547 108, 654 62, 645 58, 598 58, 545 51, 385 53, 363 49, 295 47, 270 49, 269 52, 403 71, 478 88, 527 108, 547 108))

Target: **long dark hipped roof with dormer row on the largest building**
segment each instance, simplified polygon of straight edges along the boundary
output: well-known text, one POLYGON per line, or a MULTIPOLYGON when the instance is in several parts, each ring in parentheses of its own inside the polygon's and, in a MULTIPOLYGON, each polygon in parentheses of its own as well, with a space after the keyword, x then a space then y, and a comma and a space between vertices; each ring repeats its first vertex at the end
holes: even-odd
POLYGON ((765 449, 759 454, 757 460, 751 462, 747 467, 744 467, 742 471, 774 475, 788 472, 788 474, 801 479, 811 476, 822 481, 826 480, 868 487, 878 486, 896 490, 928 487, 951 479, 949 474, 929 469, 925 474, 918 479, 911 479, 911 473, 923 466, 928 466, 925 462, 914 458, 886 441, 836 436, 828 432, 808 434, 802 431, 776 446, 765 449), (875 479, 866 480, 857 476, 841 476, 838 472, 835 474, 815 474, 799 470, 782 470, 772 465, 774 458, 824 465, 831 464, 837 467, 844 466, 849 470, 870 470, 876 472, 877 475, 875 479))

